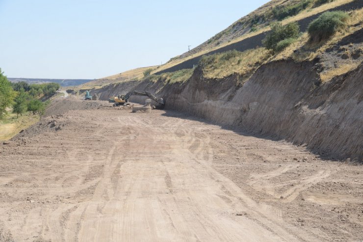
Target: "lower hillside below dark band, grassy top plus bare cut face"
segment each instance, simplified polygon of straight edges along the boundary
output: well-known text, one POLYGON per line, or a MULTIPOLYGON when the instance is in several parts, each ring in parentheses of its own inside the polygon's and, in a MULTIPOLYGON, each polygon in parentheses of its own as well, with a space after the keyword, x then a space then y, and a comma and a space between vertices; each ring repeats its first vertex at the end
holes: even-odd
POLYGON ((346 26, 324 41, 314 42, 304 32, 279 52, 259 47, 211 54, 194 69, 152 74, 93 92, 107 100, 132 89, 149 90, 166 100, 166 108, 305 143, 319 154, 362 161, 357 129, 363 123, 363 9, 344 14, 346 26), (327 116, 329 121, 323 118, 327 116))

